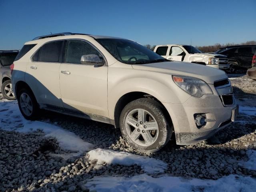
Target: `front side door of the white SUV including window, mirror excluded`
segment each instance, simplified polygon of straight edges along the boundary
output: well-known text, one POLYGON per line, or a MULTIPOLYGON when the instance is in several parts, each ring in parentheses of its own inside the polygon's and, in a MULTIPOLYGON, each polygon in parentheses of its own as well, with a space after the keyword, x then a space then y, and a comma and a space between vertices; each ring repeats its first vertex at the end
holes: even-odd
POLYGON ((85 113, 92 119, 95 115, 108 117, 108 67, 81 64, 81 56, 87 54, 102 56, 85 40, 68 40, 65 61, 59 70, 63 106, 70 112, 85 113))

